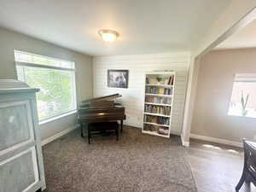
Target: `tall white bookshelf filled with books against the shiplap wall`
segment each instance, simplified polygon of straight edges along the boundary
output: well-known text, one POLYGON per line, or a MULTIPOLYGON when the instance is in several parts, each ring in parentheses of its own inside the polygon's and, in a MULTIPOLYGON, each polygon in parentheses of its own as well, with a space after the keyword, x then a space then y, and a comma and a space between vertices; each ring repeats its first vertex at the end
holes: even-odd
POLYGON ((175 72, 145 74, 143 133, 170 137, 175 72))

